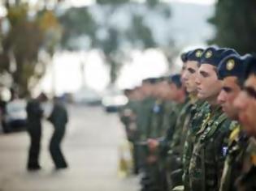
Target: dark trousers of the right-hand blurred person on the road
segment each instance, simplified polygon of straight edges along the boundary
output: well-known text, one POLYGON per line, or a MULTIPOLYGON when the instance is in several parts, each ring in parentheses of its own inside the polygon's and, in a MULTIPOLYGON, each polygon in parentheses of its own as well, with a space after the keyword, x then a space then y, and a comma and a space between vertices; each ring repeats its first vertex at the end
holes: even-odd
POLYGON ((65 126, 54 127, 54 134, 50 139, 50 155, 54 161, 56 168, 66 168, 67 162, 64 159, 63 152, 60 148, 60 143, 63 140, 65 134, 65 126))

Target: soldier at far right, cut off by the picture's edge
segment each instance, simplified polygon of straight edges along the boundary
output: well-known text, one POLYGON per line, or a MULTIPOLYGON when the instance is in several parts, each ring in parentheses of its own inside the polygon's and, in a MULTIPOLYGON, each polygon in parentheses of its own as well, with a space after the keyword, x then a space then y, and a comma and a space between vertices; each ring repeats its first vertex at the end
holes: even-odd
POLYGON ((242 163, 241 176, 236 180, 236 190, 252 191, 256 189, 256 58, 249 61, 245 70, 243 90, 234 102, 238 109, 239 121, 246 134, 250 136, 242 163))

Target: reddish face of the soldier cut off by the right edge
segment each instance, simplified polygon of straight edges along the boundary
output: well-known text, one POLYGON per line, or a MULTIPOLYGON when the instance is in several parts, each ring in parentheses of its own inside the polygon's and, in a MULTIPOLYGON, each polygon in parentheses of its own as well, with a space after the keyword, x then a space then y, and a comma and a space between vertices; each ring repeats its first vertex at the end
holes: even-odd
POLYGON ((235 102, 238 109, 239 121, 248 134, 256 135, 256 76, 251 75, 245 81, 244 89, 239 93, 235 102))

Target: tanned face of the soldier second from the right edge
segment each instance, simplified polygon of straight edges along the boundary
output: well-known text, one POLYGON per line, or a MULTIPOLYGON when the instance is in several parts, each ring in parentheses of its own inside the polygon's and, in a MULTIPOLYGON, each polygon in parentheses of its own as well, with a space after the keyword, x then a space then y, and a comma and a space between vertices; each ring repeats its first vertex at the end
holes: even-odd
POLYGON ((218 103, 223 112, 233 120, 238 118, 238 110, 234 107, 234 100, 238 96, 241 88, 237 84, 236 77, 227 77, 222 81, 222 89, 219 92, 218 103))

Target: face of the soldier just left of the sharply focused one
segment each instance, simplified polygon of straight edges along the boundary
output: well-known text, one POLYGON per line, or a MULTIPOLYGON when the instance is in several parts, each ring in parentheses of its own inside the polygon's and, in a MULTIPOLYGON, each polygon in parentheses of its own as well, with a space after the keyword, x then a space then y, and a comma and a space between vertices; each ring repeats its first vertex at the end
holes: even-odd
POLYGON ((198 70, 197 62, 195 61, 187 62, 187 65, 185 67, 182 77, 184 79, 184 87, 186 87, 186 90, 189 93, 197 92, 197 84, 196 84, 197 70, 198 70))

